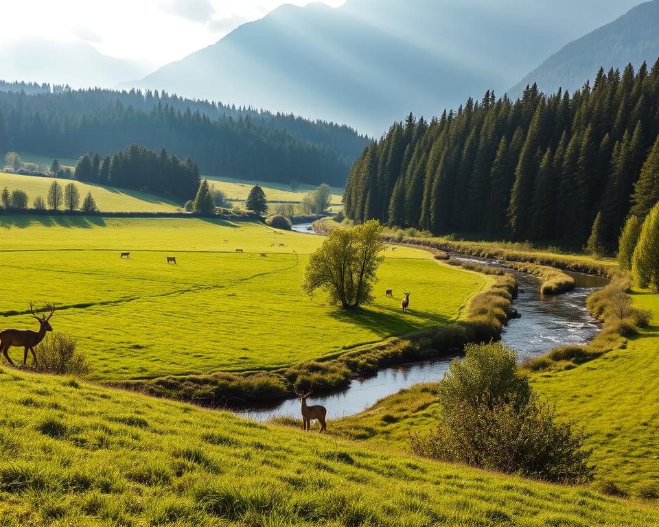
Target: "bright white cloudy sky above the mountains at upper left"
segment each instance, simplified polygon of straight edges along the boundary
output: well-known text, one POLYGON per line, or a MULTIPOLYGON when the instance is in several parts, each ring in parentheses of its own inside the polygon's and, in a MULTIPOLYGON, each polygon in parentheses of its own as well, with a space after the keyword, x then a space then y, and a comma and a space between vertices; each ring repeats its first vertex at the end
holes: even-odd
POLYGON ((104 55, 158 67, 284 3, 310 0, 0 0, 0 49, 34 38, 83 41, 104 55))

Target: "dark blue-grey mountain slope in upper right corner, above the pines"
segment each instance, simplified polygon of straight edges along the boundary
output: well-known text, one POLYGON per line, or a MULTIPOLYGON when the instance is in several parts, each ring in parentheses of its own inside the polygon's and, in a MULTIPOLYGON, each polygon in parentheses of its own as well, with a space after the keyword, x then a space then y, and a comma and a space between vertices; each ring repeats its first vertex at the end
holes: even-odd
POLYGON ((575 91, 584 79, 592 84, 601 67, 639 67, 659 57, 659 0, 642 3, 616 21, 583 36, 553 54, 508 93, 518 97, 528 84, 544 93, 575 91))

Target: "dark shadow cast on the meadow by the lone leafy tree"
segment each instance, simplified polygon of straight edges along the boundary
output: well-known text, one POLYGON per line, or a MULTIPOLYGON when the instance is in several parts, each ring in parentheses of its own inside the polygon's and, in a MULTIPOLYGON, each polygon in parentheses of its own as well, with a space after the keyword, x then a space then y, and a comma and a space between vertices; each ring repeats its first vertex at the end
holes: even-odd
POLYGON ((336 309, 329 316, 339 322, 358 325, 378 336, 404 335, 421 327, 446 325, 453 321, 438 313, 410 310, 403 313, 393 307, 336 309))

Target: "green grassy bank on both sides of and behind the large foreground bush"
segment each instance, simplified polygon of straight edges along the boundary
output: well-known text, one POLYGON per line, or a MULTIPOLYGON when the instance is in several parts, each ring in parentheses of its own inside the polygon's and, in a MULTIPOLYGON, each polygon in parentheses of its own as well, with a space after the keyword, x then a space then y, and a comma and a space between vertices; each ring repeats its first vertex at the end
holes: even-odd
MULTIPOLYGON (((559 414, 591 434, 586 443, 597 465, 595 485, 610 492, 659 498, 659 295, 636 291, 634 303, 654 313, 650 327, 582 366, 536 375, 533 386, 559 414)), ((391 395, 333 430, 369 444, 405 449, 410 432, 431 430, 436 418, 435 385, 391 395)))

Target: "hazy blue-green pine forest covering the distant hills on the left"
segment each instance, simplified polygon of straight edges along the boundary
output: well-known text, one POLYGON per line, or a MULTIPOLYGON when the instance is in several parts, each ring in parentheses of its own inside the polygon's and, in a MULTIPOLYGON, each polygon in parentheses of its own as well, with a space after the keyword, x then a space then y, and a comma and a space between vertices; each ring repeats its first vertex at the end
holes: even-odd
POLYGON ((347 126, 157 91, 0 83, 0 150, 103 155, 140 143, 194 156, 206 174, 343 186, 369 143, 347 126))

